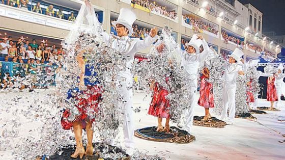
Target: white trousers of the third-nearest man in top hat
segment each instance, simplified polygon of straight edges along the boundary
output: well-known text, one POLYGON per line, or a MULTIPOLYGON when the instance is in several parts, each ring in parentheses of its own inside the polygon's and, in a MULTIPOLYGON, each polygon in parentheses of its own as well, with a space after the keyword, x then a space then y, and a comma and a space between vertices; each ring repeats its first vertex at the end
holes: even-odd
POLYGON ((227 110, 229 109, 229 119, 234 120, 236 114, 236 86, 224 87, 223 89, 223 111, 221 119, 227 116, 227 110))

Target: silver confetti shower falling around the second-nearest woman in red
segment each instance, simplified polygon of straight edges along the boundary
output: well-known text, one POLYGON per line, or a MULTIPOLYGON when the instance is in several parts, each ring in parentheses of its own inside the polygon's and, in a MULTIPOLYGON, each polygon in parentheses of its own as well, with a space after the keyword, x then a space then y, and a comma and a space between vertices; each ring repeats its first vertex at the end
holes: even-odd
POLYGON ((147 55, 147 60, 135 63, 133 72, 140 80, 140 87, 144 86, 142 88, 148 90, 150 82, 154 81, 169 92, 166 98, 169 99, 170 118, 173 122, 179 123, 182 113, 189 108, 189 85, 185 81, 185 72, 180 67, 180 62, 173 56, 177 43, 171 32, 167 27, 163 29, 159 41, 147 55), (161 53, 156 49, 160 44, 164 45, 161 53))

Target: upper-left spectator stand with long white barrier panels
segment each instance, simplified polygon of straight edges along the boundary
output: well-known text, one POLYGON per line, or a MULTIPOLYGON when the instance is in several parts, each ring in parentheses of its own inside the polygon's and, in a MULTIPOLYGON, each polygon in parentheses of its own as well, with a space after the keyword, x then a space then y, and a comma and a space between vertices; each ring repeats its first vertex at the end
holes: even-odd
MULTIPOLYGON (((70 29, 70 23, 71 21, 68 20, 68 17, 71 15, 71 13, 76 15, 78 14, 78 11, 81 7, 81 4, 78 2, 72 2, 68 0, 62 0, 62 1, 56 1, 56 4, 54 1, 46 0, 46 1, 29 1, 29 4, 27 4, 27 8, 22 9, 22 8, 17 8, 11 7, 7 5, 7 0, 5 1, 6 5, 0 4, 0 16, 6 16, 9 18, 14 18, 14 19, 20 19, 24 21, 29 21, 33 23, 38 23, 38 24, 43 24, 43 25, 49 25, 55 28, 61 28, 65 30, 70 29), (32 12, 33 7, 37 4, 37 2, 40 2, 40 7, 42 9, 42 14, 32 12), (66 5, 68 4, 68 5, 66 5), (53 6, 53 11, 54 11, 54 18, 52 16, 46 15, 46 9, 52 5, 53 6), (68 6, 70 8, 64 7, 68 6), (71 9, 72 8, 72 9, 71 9), (63 19, 57 18, 56 13, 62 9, 64 16, 63 19)), ((95 12, 97 14, 97 17, 100 22, 103 22, 103 10, 102 8, 99 8, 97 6, 94 6, 95 12)))

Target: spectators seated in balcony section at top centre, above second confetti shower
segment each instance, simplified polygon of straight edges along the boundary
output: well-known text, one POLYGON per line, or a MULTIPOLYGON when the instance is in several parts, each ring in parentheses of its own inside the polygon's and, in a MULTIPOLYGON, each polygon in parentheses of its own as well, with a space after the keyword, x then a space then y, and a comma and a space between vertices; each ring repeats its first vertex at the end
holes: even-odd
POLYGON ((176 19, 177 13, 176 11, 167 11, 166 6, 160 6, 155 1, 151 0, 131 0, 131 3, 135 7, 135 5, 139 5, 141 7, 148 8, 151 12, 156 12, 158 14, 164 15, 166 17, 176 19))

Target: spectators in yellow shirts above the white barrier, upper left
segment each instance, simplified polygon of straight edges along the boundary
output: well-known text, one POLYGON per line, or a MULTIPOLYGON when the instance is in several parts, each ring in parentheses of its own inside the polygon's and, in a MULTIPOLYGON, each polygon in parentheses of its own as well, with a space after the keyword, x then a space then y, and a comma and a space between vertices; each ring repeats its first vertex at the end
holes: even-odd
MULTIPOLYGON (((5 3, 5 1, 2 0, 0 3, 1 4, 5 4, 5 5, 9 5, 9 6, 12 6, 12 7, 21 8, 21 9, 24 9, 24 10, 29 10, 28 9, 29 0, 18 0, 18 1, 17 0, 8 0, 6 3, 5 3)), ((32 10, 32 12, 44 14, 43 13, 43 8, 41 7, 41 3, 40 2, 37 2, 37 4, 31 10, 32 10)), ((70 20, 70 21, 75 21, 75 19, 76 19, 76 17, 74 16, 73 13, 71 13, 69 16, 65 15, 63 13, 63 9, 62 8, 60 8, 58 11, 56 11, 53 8, 53 5, 49 5, 49 7, 47 7, 45 9, 45 14, 48 15, 48 16, 58 17, 58 18, 61 18, 61 19, 67 19, 67 20, 70 20), (68 18, 65 18, 65 16, 68 16, 68 18)))

